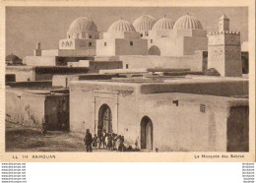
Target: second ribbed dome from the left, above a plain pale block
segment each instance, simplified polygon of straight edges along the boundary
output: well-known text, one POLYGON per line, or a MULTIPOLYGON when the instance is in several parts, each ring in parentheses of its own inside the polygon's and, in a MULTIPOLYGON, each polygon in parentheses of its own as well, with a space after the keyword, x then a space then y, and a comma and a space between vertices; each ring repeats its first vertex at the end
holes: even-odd
POLYGON ((109 29, 108 32, 119 32, 119 31, 136 31, 131 23, 125 20, 119 20, 114 22, 109 29))

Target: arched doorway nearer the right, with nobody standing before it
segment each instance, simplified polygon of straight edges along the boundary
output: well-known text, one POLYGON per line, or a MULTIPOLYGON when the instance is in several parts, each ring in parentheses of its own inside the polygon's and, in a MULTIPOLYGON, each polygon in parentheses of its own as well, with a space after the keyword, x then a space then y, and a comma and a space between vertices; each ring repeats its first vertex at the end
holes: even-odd
POLYGON ((141 121, 141 149, 153 150, 153 123, 148 116, 141 121))

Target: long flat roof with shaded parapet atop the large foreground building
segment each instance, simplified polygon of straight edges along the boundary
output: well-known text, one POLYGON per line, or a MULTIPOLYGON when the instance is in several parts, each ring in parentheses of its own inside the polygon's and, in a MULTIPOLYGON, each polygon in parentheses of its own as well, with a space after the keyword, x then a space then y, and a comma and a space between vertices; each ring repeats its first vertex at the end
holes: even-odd
POLYGON ((71 81, 75 88, 109 88, 110 91, 126 90, 132 87, 142 94, 182 92, 203 95, 245 96, 248 94, 248 79, 215 77, 173 77, 173 78, 124 78, 111 80, 71 81))

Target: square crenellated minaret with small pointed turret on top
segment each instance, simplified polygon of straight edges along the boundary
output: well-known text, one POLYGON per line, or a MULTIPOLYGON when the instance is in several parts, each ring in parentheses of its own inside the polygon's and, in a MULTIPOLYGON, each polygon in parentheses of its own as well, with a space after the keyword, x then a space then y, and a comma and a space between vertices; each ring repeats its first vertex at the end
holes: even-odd
POLYGON ((241 77, 240 32, 229 31, 229 19, 223 15, 219 31, 208 34, 208 69, 215 68, 222 77, 241 77))

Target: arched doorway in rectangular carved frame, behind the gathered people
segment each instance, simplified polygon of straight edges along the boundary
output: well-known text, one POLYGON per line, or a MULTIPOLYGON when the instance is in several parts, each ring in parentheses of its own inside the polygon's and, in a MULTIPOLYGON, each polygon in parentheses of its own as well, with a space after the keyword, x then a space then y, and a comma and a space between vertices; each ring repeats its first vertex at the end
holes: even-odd
POLYGON ((104 130, 112 133, 112 113, 107 104, 102 104, 98 110, 97 135, 100 136, 104 130))

